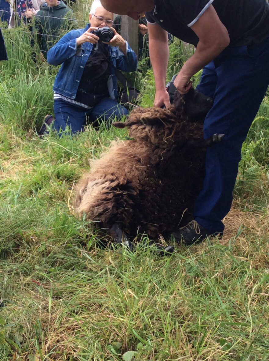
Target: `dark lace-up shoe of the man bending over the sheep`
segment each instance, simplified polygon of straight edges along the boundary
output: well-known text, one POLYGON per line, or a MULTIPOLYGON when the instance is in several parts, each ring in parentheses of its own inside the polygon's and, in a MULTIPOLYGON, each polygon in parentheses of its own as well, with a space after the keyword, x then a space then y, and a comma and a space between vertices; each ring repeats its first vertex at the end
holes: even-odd
POLYGON ((186 226, 179 228, 177 231, 170 234, 170 238, 174 238, 177 243, 184 243, 189 246, 193 243, 202 242, 208 236, 213 236, 222 233, 211 233, 206 230, 203 226, 199 225, 198 222, 192 220, 186 226))

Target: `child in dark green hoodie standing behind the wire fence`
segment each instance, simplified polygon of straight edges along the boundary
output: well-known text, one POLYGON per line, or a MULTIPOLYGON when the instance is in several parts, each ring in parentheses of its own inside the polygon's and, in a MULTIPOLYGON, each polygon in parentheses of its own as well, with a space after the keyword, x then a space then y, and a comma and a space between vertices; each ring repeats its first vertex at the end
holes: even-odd
POLYGON ((61 30, 69 31, 73 10, 63 1, 45 0, 34 17, 34 27, 41 53, 47 58, 49 49, 59 40, 61 30))

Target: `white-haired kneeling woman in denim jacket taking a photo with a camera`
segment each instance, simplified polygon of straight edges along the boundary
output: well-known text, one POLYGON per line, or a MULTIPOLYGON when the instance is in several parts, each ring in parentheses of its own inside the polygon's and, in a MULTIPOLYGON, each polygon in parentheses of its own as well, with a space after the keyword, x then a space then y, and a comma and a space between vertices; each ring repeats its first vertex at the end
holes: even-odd
POLYGON ((85 29, 72 30, 48 52, 52 65, 62 64, 54 81, 54 117, 45 117, 40 134, 53 120, 58 133, 69 127, 83 131, 86 122, 108 124, 127 114, 118 104, 115 68, 135 71, 137 58, 129 44, 112 28, 113 13, 94 1, 85 29))

